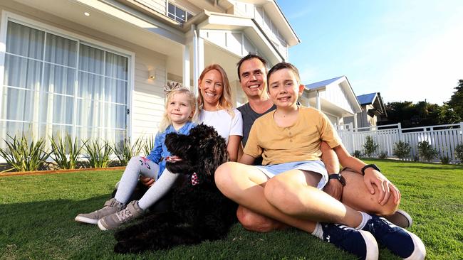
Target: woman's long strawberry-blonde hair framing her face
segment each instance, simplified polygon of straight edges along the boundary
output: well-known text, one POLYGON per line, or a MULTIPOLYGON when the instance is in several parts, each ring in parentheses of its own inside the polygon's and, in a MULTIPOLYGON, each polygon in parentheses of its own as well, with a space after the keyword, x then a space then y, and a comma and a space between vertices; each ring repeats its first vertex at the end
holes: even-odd
MULTIPOLYGON (((233 112, 233 104, 231 102, 230 83, 227 77, 227 72, 225 72, 223 67, 221 67, 218 64, 212 64, 212 65, 205 67, 201 75, 199 75, 199 82, 200 82, 199 85, 202 83, 202 79, 204 78, 204 75, 206 75, 206 73, 211 70, 217 70, 220 73, 220 75, 222 75, 222 81, 224 84, 224 91, 222 92, 222 97, 219 98, 219 107, 221 109, 226 109, 227 112, 231 115, 231 117, 234 117, 235 113, 233 112)), ((202 98, 201 92, 199 91, 198 107, 199 109, 202 109, 203 106, 204 106, 204 100, 202 98)))

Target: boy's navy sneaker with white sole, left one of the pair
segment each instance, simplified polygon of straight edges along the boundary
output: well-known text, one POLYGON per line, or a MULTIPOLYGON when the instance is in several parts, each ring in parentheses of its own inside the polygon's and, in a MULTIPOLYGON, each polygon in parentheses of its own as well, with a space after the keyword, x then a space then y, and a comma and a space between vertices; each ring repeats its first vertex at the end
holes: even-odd
POLYGON ((378 244, 370 232, 332 223, 321 223, 321 228, 324 241, 361 259, 378 259, 378 244))

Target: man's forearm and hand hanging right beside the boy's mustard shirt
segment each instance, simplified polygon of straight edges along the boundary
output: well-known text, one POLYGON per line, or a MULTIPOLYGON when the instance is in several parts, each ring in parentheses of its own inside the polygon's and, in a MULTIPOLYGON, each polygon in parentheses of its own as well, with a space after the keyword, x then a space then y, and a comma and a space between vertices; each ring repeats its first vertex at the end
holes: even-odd
MULTIPOLYGON (((339 161, 338 156, 333 151, 333 149, 328 146, 328 143, 321 141, 320 144, 321 150, 321 161, 325 164, 326 171, 329 174, 339 173, 339 161)), ((340 200, 343 195, 343 185, 339 180, 331 179, 328 180, 323 191, 334 197, 336 200, 340 200)))

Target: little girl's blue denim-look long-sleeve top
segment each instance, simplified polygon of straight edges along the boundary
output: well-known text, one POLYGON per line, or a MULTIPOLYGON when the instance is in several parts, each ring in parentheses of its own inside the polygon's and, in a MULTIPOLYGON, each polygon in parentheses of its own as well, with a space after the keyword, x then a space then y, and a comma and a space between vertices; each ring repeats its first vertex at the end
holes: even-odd
POLYGON ((170 152, 167 151, 167 147, 165 146, 165 136, 170 133, 177 133, 177 134, 189 134, 189 130, 192 129, 196 124, 191 121, 187 121, 187 123, 182 126, 179 131, 175 131, 174 126, 172 124, 165 129, 162 133, 157 133, 155 137, 155 147, 152 148, 151 153, 147 156, 147 159, 153 161, 159 165, 159 171, 157 172, 157 178, 160 178, 162 171, 165 169, 165 158, 170 156, 170 152), (162 161, 161 161, 162 158, 162 161))

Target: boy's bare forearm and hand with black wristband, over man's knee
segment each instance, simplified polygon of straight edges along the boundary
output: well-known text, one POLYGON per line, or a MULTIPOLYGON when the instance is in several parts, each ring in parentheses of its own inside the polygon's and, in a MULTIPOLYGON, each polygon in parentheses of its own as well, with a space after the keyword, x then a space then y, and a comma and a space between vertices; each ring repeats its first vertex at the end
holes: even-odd
MULTIPOLYGON (((355 158, 353 156, 350 156, 347 150, 345 150, 344 146, 341 144, 340 146, 336 146, 333 148, 335 151, 336 155, 339 158, 339 162, 342 166, 351 168, 355 170, 358 173, 362 172, 363 166, 366 164, 363 163, 363 161, 360 161, 358 158, 355 158)), ((390 193, 395 197, 394 202, 397 204, 400 201, 400 191, 390 183, 389 180, 380 173, 378 170, 374 170, 373 168, 367 168, 365 170, 365 176, 363 177, 363 181, 365 182, 365 185, 367 186, 368 190, 370 190, 371 194, 375 194, 375 189, 373 188, 373 185, 376 185, 378 187, 378 190, 380 191, 380 200, 378 203, 380 205, 385 205, 387 200, 389 200, 390 193)))

